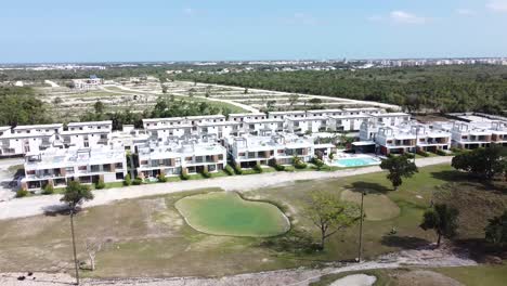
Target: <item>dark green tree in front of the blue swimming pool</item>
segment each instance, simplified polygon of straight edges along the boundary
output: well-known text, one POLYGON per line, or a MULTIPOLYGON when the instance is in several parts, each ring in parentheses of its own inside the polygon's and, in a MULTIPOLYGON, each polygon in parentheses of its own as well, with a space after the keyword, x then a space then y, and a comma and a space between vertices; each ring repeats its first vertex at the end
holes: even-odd
POLYGON ((418 172, 417 166, 406 156, 392 156, 380 164, 382 170, 388 170, 387 179, 391 181, 394 191, 402 185, 402 178, 411 178, 418 172))

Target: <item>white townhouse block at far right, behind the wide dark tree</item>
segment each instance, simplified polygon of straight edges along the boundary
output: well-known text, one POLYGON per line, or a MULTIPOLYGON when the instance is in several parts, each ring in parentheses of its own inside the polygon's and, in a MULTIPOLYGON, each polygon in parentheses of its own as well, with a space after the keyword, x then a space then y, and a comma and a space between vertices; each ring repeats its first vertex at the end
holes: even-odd
POLYGON ((493 135, 490 128, 491 122, 455 121, 451 128, 453 146, 465 150, 489 147, 493 135))

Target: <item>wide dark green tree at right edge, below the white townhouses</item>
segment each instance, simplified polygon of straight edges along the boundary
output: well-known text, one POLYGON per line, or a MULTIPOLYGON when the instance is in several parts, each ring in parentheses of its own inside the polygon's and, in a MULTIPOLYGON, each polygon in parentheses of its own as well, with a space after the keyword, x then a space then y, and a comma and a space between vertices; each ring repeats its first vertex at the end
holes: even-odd
POLYGON ((459 154, 453 158, 452 166, 481 179, 492 180, 507 171, 506 157, 507 148, 494 145, 459 154))

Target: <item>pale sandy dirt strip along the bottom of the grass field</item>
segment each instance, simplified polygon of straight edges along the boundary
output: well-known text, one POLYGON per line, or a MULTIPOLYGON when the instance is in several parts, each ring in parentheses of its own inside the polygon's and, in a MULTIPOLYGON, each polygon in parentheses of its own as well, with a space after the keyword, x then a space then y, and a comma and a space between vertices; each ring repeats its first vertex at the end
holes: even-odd
MULTIPOLYGON (((199 278, 199 277, 170 277, 170 278, 129 278, 129 280, 90 280, 82 281, 82 285, 143 285, 143 286, 230 286, 230 285, 244 285, 244 286, 276 286, 276 285, 292 285, 306 286, 312 282, 318 281, 323 275, 343 273, 350 271, 362 271, 372 269, 396 269, 400 266, 411 265, 414 268, 439 268, 439 266, 471 266, 477 265, 476 261, 468 258, 467 253, 456 253, 453 249, 442 247, 440 249, 432 249, 430 247, 418 250, 405 250, 396 253, 389 253, 379 257, 375 261, 366 261, 362 263, 350 263, 341 266, 328 266, 324 269, 292 269, 282 271, 270 271, 261 273, 248 273, 233 276, 216 277, 216 278, 199 278)), ((416 271, 417 272, 417 271, 416 271)), ((430 271, 425 272, 425 276, 429 276, 430 271)), ((417 273, 416 273, 417 274, 417 273)), ((17 277, 27 275, 26 273, 2 273, 0 274, 0 285, 2 286, 54 286, 54 285, 69 285, 73 282, 69 274, 50 274, 50 273, 35 273, 32 276, 26 276, 25 281, 18 281, 17 277), (34 280, 35 277, 35 280, 34 280)), ((418 276, 418 275, 416 275, 418 276)), ((443 275, 432 275, 435 282, 447 282, 443 275), (440 277, 440 278, 439 278, 440 277)), ((410 277, 406 277, 410 278, 410 277)), ((414 278, 416 278, 414 276, 414 278)), ((356 282, 363 282, 363 278, 356 282)), ((337 284, 337 285, 354 285, 354 284, 337 284)), ((355 284, 368 285, 368 284, 355 284)), ((455 285, 455 284, 441 284, 435 285, 455 285)))

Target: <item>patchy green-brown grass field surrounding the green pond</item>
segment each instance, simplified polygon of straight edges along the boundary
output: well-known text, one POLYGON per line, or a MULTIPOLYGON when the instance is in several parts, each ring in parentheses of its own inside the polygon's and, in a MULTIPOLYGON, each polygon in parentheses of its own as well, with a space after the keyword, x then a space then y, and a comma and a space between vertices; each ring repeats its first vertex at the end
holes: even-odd
MULTIPOLYGON (((197 232, 185 223, 174 207, 183 197, 220 190, 129 199, 88 208, 76 218, 78 256, 80 260, 87 259, 87 237, 103 242, 96 271, 84 272, 88 276, 100 277, 221 276, 355 258, 358 226, 332 236, 324 251, 314 250, 317 229, 302 216, 312 190, 336 192, 355 202, 359 192, 369 192, 365 200, 369 219, 364 223, 363 244, 366 258, 434 242, 433 233, 418 226, 422 212, 448 183, 467 183, 466 179, 450 166, 432 166, 421 168, 394 192, 385 176, 372 173, 301 181, 244 193, 246 199, 277 205, 291 222, 288 233, 265 238, 197 232), (395 234, 390 234, 393 229, 395 234)), ((506 197, 486 186, 477 186, 480 192, 477 196, 506 197)), ((467 209, 480 213, 477 207, 482 208, 482 204, 466 202, 467 209)), ((37 216, 0 221, 0 272, 72 271, 68 217, 37 216)))

